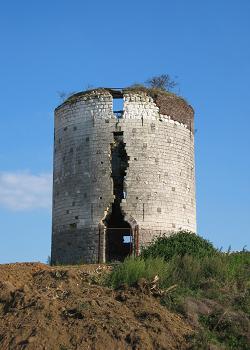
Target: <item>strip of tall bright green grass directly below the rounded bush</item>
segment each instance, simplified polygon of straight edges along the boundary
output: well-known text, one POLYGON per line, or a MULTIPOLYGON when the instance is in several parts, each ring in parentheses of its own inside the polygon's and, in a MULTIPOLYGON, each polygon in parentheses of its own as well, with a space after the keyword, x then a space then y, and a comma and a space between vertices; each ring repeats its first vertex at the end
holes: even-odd
POLYGON ((168 261, 162 257, 129 257, 113 269, 107 283, 113 288, 134 286, 139 279, 151 281, 156 275, 161 288, 177 284, 181 289, 209 295, 211 287, 219 292, 224 287, 226 292, 229 286, 233 295, 233 286, 238 292, 250 288, 250 253, 220 253, 213 257, 176 255, 168 261))

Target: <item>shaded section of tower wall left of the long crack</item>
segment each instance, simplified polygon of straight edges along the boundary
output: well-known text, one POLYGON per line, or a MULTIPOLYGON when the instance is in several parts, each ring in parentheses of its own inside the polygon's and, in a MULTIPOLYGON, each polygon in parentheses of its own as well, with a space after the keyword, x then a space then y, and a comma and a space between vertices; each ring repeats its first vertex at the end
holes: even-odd
POLYGON ((98 224, 113 201, 109 145, 115 123, 108 92, 55 111, 53 263, 98 259, 98 224))

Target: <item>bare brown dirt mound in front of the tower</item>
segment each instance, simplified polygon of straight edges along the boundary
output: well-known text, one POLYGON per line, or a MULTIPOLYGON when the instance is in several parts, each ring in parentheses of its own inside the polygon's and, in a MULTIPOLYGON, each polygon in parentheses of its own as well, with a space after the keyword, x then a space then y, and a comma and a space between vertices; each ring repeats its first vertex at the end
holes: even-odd
POLYGON ((188 349, 192 329, 156 298, 93 284, 108 268, 0 265, 0 349, 188 349))

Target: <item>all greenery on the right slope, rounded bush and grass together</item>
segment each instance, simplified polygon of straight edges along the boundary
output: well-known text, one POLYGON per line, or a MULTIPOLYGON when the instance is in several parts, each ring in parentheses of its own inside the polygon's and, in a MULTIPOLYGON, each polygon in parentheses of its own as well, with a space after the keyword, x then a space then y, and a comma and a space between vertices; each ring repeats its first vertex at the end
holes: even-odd
POLYGON ((250 348, 250 252, 223 253, 188 232, 157 238, 139 258, 127 258, 114 267, 106 283, 119 288, 136 286, 143 278, 159 277, 162 305, 187 316, 187 300, 211 300, 209 315, 199 314, 201 331, 193 349, 219 344, 226 349, 250 348), (205 344, 207 344, 205 346, 205 344))

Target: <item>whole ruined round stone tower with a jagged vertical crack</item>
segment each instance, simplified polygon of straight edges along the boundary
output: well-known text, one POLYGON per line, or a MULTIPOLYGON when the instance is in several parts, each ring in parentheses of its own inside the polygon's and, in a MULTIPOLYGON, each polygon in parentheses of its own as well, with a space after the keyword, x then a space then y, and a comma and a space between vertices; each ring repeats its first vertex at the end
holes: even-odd
POLYGON ((143 87, 80 92, 56 108, 52 263, 123 260, 156 235, 196 231, 193 115, 143 87))

